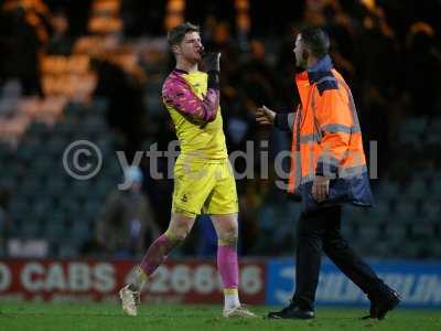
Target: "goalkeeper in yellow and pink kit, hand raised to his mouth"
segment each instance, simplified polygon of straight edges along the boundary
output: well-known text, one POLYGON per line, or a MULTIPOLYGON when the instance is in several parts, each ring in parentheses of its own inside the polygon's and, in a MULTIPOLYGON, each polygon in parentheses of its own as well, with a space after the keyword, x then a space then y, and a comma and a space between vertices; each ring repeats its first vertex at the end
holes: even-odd
POLYGON ((226 318, 256 317, 240 305, 237 261, 237 193, 228 161, 219 108, 220 53, 202 55, 200 29, 183 23, 168 34, 176 66, 162 87, 163 103, 175 126, 181 153, 174 167, 169 228, 147 250, 120 290, 122 309, 137 314, 142 287, 170 252, 182 243, 198 214, 208 214, 217 233, 217 268, 224 287, 226 318), (205 72, 198 71, 198 63, 205 72))

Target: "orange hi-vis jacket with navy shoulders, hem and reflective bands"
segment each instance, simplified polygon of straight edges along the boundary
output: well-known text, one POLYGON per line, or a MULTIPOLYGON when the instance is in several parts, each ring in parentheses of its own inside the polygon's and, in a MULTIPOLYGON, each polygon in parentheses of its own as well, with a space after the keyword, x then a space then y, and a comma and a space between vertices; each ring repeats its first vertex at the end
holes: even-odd
POLYGON ((330 202, 372 205, 362 131, 346 82, 326 55, 297 74, 295 84, 301 104, 292 128, 288 191, 300 191, 306 204, 314 204, 308 201, 312 182, 324 175, 331 179, 330 202))

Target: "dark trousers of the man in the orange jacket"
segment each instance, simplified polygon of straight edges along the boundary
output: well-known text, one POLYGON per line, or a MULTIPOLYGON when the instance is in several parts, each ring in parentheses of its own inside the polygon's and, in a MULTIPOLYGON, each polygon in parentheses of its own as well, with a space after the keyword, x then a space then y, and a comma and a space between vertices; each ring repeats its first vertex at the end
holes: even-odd
POLYGON ((322 249, 369 298, 380 295, 386 287, 342 237, 341 215, 342 207, 334 206, 302 213, 299 218, 295 292, 292 301, 302 309, 314 309, 322 249))

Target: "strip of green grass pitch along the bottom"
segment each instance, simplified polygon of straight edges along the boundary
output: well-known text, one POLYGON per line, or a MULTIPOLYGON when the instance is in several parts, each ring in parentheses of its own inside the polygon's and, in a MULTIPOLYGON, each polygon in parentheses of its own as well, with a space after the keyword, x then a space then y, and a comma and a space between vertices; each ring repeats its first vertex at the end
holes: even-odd
MULTIPOLYGON (((273 307, 271 307, 273 308, 273 307)), ((250 307, 263 317, 271 308, 250 307)), ((278 309, 279 307, 277 307, 278 309)), ((0 330, 441 330, 441 311, 397 309, 383 321, 362 321, 366 309, 318 308, 308 321, 224 319, 220 306, 142 305, 138 317, 115 303, 0 302, 0 330)))

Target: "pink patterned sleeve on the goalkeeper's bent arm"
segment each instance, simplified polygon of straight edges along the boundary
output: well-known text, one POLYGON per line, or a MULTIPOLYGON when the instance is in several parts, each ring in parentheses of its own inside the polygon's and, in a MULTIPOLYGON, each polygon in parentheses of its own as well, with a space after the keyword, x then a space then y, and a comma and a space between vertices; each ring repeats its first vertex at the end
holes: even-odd
POLYGON ((208 88, 203 99, 200 99, 189 84, 180 76, 169 78, 162 88, 164 103, 191 118, 208 122, 216 118, 219 108, 219 86, 217 74, 208 74, 208 88))

